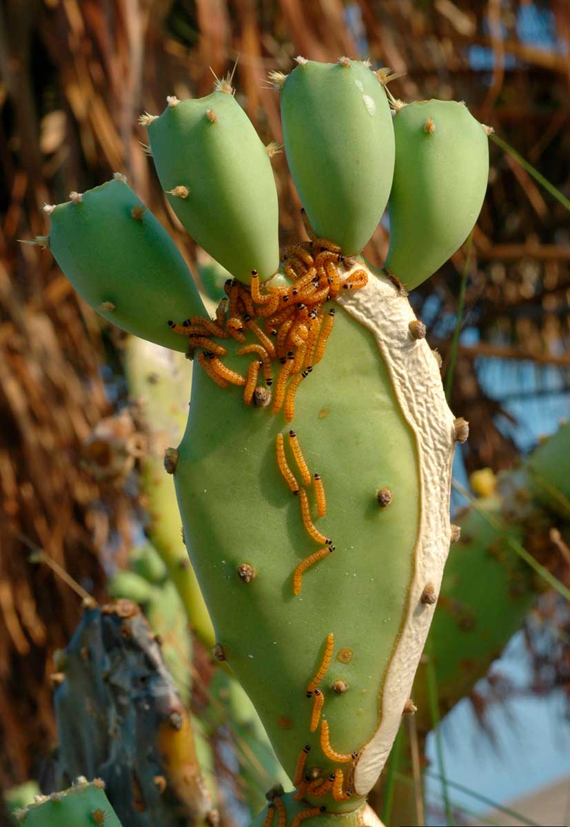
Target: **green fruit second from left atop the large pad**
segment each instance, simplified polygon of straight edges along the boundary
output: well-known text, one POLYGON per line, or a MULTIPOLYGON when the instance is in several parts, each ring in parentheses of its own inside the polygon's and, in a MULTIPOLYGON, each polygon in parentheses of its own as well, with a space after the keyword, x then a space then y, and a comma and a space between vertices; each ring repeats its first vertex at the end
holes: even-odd
POLYGON ((251 270, 263 281, 279 266, 277 191, 266 147, 230 89, 169 98, 148 131, 176 215, 204 250, 248 284, 251 270))

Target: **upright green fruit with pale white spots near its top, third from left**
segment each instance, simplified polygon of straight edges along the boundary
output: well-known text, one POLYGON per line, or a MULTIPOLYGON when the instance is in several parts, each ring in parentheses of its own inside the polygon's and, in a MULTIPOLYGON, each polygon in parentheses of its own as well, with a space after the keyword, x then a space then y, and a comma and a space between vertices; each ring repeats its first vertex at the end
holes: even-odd
POLYGON ((394 129, 386 92, 367 63, 298 58, 281 88, 291 174, 317 236, 352 256, 386 208, 394 129))

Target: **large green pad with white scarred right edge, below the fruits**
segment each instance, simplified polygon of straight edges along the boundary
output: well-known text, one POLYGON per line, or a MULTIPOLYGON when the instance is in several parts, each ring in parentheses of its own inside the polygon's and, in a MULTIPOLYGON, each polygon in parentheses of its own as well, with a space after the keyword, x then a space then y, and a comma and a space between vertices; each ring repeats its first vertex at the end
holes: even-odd
MULTIPOLYGON (((433 613, 421 596, 428 582, 438 589, 448 552, 456 435, 437 362, 410 334, 405 296, 369 274, 366 287, 339 304, 290 424, 194 370, 174 475, 217 634, 214 654, 242 682, 290 777, 305 745, 308 767, 352 777, 350 800, 320 801, 337 813, 362 803, 400 724, 433 613), (319 545, 304 528, 302 495, 291 494, 276 459, 276 436, 290 428, 309 463, 309 504, 314 471, 326 490, 320 546, 325 538, 336 546, 305 573, 298 595, 295 567, 319 545), (327 724, 310 730, 314 700, 306 697, 327 654, 320 690, 332 749, 327 724)), ((245 370, 242 356, 228 353, 224 362, 245 370)))

